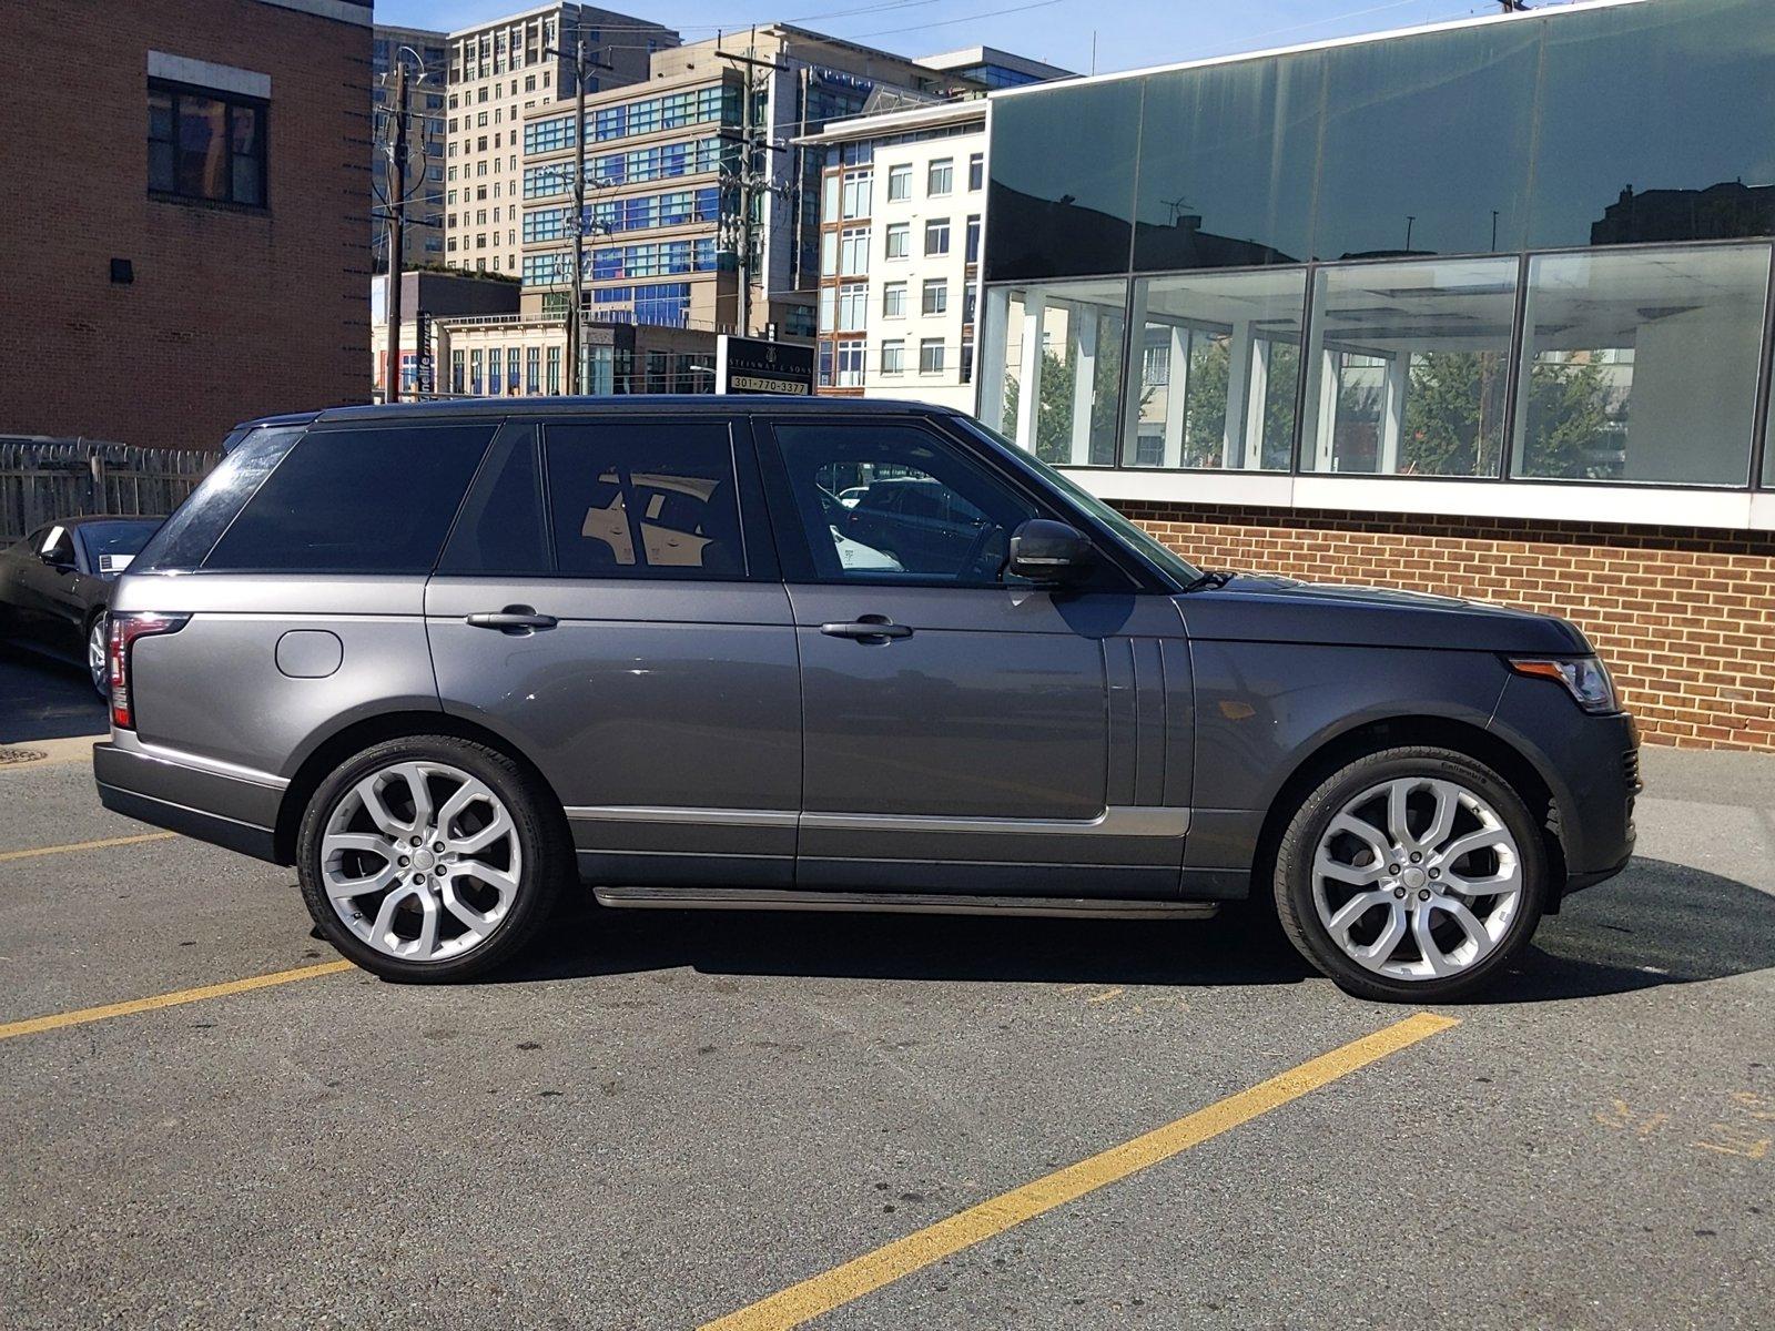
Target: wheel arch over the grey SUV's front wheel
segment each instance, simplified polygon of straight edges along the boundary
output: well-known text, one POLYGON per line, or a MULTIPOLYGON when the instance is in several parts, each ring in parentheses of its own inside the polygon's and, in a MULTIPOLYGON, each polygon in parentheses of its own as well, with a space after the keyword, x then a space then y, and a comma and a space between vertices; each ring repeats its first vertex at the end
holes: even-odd
POLYGON ((1454 749, 1466 754, 1503 777, 1511 790, 1521 797, 1546 847, 1546 914, 1558 914, 1560 887, 1566 882, 1566 848, 1560 843, 1558 802, 1553 797, 1553 788, 1541 776, 1541 770, 1528 754, 1509 740, 1471 722, 1438 715, 1400 715, 1369 721, 1322 740, 1315 749, 1299 758, 1271 799, 1269 813, 1264 815, 1264 825, 1257 838, 1257 854, 1251 861, 1253 898, 1262 900, 1267 896, 1267 884, 1276 870, 1276 848, 1282 845, 1282 834, 1287 831, 1301 800, 1321 781, 1365 754, 1415 744, 1454 749))

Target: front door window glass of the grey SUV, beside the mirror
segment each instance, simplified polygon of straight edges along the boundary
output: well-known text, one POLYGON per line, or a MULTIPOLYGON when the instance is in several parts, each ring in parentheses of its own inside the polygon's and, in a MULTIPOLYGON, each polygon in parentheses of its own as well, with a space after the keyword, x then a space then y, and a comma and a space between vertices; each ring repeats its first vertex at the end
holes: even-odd
POLYGON ((916 426, 776 428, 795 520, 822 580, 994 586, 1038 509, 916 426), (845 495, 845 499, 840 499, 845 495))

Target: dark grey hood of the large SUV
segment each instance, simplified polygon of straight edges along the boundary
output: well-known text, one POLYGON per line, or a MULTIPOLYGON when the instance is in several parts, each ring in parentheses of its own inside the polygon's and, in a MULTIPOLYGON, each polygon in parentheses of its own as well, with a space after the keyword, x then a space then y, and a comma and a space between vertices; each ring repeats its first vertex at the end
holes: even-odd
POLYGON ((1237 573, 1227 586, 1177 596, 1191 637, 1232 642, 1328 642, 1361 648, 1589 655, 1566 619, 1422 591, 1347 587, 1237 573))

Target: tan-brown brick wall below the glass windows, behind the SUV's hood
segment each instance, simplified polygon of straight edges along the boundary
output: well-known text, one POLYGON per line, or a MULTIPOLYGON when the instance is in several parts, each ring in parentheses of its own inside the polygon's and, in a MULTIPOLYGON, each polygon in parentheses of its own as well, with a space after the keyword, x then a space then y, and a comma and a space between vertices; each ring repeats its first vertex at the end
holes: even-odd
POLYGON ((1645 738, 1775 751, 1775 536, 1693 527, 1118 504, 1187 559, 1475 596, 1574 621, 1645 738))

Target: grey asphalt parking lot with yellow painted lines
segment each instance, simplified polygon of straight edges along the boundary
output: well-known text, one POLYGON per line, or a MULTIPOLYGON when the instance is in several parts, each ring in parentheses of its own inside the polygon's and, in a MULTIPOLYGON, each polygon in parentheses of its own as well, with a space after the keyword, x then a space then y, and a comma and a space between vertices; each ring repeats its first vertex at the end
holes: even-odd
POLYGON ((103 811, 101 726, 0 657, 7 1326, 1775 1324, 1771 758, 1649 749, 1629 873, 1425 1017, 1246 914, 575 909, 387 985, 103 811))

